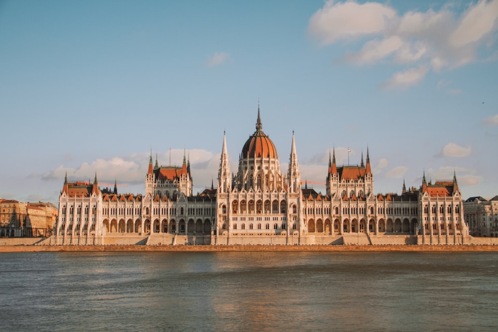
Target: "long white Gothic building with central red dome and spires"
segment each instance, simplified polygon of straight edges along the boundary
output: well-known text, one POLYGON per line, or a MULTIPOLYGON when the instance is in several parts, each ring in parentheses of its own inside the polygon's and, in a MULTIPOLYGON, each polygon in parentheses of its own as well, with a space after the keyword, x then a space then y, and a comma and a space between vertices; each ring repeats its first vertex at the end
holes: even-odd
MULTIPOLYGON (((288 169, 263 132, 258 108, 255 131, 231 168, 227 137, 217 186, 192 193, 190 161, 155 165, 145 175, 145 194, 120 194, 93 183, 64 180, 52 244, 295 245, 463 244, 456 174, 401 194, 375 194, 369 149, 359 165, 337 165, 335 151, 324 167, 326 192, 302 186, 294 133, 288 169), (233 172, 235 171, 235 173, 233 172)), ((195 172, 195 170, 194 170, 195 172)))

